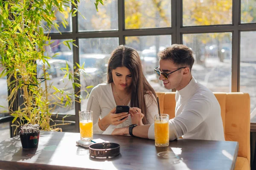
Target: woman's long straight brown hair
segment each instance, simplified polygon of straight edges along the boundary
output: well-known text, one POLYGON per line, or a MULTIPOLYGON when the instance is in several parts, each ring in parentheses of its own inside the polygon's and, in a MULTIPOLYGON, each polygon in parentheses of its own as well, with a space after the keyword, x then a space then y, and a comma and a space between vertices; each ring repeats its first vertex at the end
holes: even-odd
POLYGON ((140 56, 137 51, 124 45, 119 45, 112 51, 111 57, 108 61, 108 83, 113 82, 112 70, 117 67, 126 67, 130 70, 132 76, 132 83, 130 87, 131 107, 140 108, 141 112, 144 114, 142 122, 144 125, 148 124, 146 119, 147 106, 145 104, 144 95, 149 94, 152 102, 156 101, 157 95, 143 74, 140 56))

